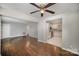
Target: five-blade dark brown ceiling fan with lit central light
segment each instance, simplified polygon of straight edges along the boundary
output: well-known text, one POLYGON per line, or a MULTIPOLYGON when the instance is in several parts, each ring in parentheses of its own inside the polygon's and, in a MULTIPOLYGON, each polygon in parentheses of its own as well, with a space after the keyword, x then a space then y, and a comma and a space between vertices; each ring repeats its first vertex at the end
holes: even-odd
POLYGON ((48 3, 47 5, 43 5, 41 4, 40 6, 36 5, 35 3, 30 3, 31 5, 37 7, 39 10, 36 10, 36 11, 33 11, 33 12, 30 12, 30 14, 33 14, 33 13, 36 13, 36 12, 40 12, 41 13, 41 17, 43 17, 43 14, 44 12, 48 12, 48 13, 51 13, 51 14, 55 14, 54 11, 50 11, 48 10, 47 8, 56 4, 56 3, 48 3))

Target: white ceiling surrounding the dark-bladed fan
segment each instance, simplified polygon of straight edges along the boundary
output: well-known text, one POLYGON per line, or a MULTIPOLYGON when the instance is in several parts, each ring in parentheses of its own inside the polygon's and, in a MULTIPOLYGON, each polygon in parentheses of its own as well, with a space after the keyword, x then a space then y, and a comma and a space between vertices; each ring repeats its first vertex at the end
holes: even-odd
MULTIPOLYGON (((30 14, 30 12, 38 10, 35 6, 29 3, 2 3, 0 4, 2 8, 14 9, 16 11, 22 12, 26 15, 41 18, 40 12, 30 14)), ((37 4, 39 5, 39 4, 37 4)), ((55 14, 67 13, 67 12, 75 12, 79 11, 79 4, 78 3, 56 3, 48 8, 51 11, 55 11, 55 14)), ((44 17, 53 16, 53 14, 45 12, 44 17)))

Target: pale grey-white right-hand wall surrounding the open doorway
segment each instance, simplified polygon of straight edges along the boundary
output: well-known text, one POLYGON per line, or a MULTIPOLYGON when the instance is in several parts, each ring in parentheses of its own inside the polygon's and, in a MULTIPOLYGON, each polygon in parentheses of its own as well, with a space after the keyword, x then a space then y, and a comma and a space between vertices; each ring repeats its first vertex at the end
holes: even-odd
POLYGON ((79 53, 79 13, 60 14, 40 21, 38 25, 38 40, 43 42, 48 40, 48 35, 46 35, 48 32, 46 21, 60 18, 62 19, 63 42, 61 47, 79 53))

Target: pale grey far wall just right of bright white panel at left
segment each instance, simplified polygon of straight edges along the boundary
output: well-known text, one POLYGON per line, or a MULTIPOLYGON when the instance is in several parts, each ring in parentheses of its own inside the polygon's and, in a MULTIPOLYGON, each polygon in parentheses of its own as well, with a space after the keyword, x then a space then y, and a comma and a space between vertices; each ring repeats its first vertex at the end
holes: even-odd
POLYGON ((23 33, 26 33, 26 24, 10 23, 10 29, 11 37, 23 36, 23 33))

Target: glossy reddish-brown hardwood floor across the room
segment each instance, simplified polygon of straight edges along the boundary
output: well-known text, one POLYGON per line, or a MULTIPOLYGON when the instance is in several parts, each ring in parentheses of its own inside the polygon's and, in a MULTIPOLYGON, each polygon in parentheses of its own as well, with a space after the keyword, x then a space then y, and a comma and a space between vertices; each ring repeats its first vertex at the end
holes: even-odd
POLYGON ((33 37, 16 37, 1 40, 2 56, 77 56, 54 45, 38 42, 33 37))

